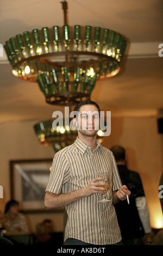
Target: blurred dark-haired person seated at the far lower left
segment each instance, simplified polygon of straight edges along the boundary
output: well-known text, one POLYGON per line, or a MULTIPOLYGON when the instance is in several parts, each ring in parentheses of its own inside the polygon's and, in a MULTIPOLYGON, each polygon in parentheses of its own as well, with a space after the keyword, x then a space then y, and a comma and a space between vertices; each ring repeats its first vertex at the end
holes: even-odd
POLYGON ((26 217, 20 213, 19 204, 16 200, 10 200, 5 205, 2 226, 10 232, 29 232, 26 217))

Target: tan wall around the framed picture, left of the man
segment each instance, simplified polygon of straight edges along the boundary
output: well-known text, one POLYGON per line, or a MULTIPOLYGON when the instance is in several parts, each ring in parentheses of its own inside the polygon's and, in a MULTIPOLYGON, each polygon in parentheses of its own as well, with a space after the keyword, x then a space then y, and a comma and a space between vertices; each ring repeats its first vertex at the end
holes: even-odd
MULTIPOLYGON (((33 125, 37 121, 26 121, 0 125, 1 162, 0 185, 3 186, 3 199, 0 199, 0 210, 4 211, 5 203, 10 200, 10 160, 51 159, 54 156, 52 147, 45 147, 37 142, 33 125)), ((51 218, 55 231, 63 230, 63 213, 28 214, 27 221, 32 231, 35 225, 45 218, 51 218)))

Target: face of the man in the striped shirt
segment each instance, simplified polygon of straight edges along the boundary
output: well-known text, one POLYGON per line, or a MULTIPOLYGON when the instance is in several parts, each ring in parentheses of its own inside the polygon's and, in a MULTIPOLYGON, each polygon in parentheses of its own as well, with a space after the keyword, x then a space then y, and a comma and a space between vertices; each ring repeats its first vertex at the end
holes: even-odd
POLYGON ((99 130, 99 112, 94 105, 84 105, 79 109, 77 130, 82 135, 93 137, 99 130))

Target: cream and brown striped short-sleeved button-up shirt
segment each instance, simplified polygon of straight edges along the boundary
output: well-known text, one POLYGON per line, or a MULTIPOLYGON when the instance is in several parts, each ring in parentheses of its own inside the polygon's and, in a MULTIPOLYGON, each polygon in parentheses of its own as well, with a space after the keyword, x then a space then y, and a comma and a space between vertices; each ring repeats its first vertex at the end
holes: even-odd
MULTIPOLYGON (((51 175, 46 191, 69 193, 87 186, 96 178, 96 172, 109 173, 111 189, 106 197, 112 199, 112 191, 122 184, 112 152, 96 141, 96 150, 77 138, 76 143, 54 155, 51 175)), ((112 202, 98 203, 101 193, 94 193, 67 205, 68 215, 65 238, 78 239, 93 245, 110 245, 121 241, 115 208, 112 202)))

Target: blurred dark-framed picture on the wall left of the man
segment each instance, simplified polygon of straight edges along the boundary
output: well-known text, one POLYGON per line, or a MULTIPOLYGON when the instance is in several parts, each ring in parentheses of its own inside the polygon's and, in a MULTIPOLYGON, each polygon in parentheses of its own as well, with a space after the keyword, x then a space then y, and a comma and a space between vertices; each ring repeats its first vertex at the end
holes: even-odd
POLYGON ((46 211, 43 204, 52 159, 10 161, 11 198, 21 211, 46 211))

